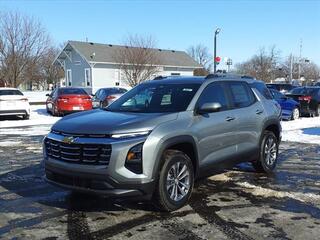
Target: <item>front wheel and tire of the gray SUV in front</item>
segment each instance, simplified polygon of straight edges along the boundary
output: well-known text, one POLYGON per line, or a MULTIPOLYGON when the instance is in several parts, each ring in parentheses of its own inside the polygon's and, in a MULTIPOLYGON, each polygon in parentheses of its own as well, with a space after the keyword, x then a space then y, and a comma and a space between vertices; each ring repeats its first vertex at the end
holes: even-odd
POLYGON ((191 196, 194 183, 193 165, 186 154, 177 150, 167 150, 162 160, 164 164, 153 195, 153 203, 159 210, 171 212, 183 207, 191 196), (175 177, 179 174, 180 181, 175 177))

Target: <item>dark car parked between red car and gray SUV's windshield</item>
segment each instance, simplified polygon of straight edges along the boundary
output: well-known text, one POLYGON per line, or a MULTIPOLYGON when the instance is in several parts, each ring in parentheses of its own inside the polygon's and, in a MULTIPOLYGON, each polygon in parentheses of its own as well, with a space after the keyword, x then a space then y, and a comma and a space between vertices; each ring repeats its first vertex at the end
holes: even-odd
POLYGON ((93 108, 107 107, 126 92, 125 88, 101 88, 92 98, 93 108))

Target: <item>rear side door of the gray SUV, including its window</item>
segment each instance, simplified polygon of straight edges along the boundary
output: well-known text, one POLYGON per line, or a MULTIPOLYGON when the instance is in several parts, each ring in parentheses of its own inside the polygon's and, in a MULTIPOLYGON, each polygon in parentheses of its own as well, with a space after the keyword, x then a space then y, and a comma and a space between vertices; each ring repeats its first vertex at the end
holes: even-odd
MULTIPOLYGON (((234 81, 226 85, 237 119, 237 155, 252 157, 259 149, 261 126, 266 113, 246 82, 234 81)), ((240 160, 248 161, 245 158, 240 160)))

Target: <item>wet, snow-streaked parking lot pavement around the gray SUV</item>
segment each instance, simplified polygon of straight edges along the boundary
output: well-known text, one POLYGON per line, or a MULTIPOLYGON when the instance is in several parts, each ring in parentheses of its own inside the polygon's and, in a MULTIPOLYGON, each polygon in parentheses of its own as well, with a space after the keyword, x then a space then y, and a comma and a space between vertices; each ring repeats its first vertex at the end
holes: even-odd
POLYGON ((45 183, 44 130, 0 132, 0 238, 319 239, 319 145, 282 143, 274 174, 241 164, 198 181, 189 205, 160 213, 45 183))

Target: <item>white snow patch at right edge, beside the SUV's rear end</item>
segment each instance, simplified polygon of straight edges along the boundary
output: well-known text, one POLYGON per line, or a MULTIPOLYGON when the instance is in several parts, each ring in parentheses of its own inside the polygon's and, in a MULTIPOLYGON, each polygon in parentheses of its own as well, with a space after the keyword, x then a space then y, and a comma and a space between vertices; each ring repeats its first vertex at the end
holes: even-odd
POLYGON ((283 121, 282 140, 320 144, 320 117, 283 121))

